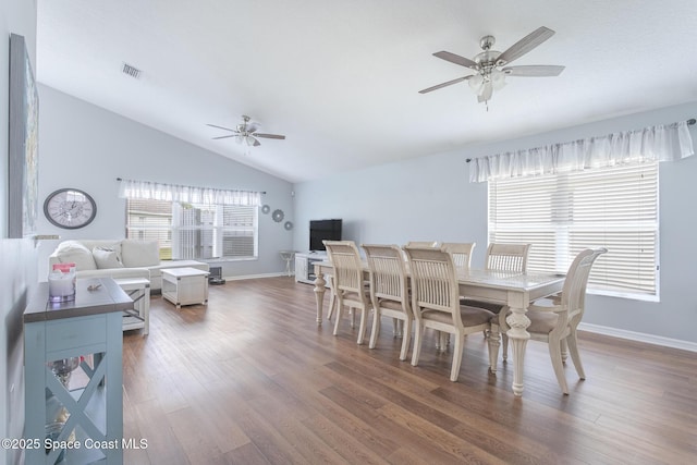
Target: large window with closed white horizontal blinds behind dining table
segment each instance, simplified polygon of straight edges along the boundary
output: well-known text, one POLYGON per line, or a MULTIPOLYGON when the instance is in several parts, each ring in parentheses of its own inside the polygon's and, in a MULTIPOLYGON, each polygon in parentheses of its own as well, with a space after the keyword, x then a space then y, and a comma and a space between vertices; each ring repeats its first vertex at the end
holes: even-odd
POLYGON ((531 243, 528 269, 565 272, 608 247, 588 289, 658 299, 658 162, 489 182, 489 241, 531 243))

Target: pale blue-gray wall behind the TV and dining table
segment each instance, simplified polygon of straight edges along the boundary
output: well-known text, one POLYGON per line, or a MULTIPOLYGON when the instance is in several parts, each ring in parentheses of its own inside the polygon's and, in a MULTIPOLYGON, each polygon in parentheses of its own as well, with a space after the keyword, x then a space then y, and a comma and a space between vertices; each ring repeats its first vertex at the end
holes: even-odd
MULTIPOLYGON (((344 238, 404 244, 409 240, 477 243, 487 247, 487 185, 468 182, 467 158, 668 124, 697 117, 697 102, 514 140, 404 160, 295 185, 294 247, 308 248, 311 219, 342 218, 344 238)), ((697 126, 690 126, 697 148, 697 126)), ((606 332, 643 333, 695 346, 697 332, 697 156, 660 166, 661 302, 590 295, 584 323, 606 332)), ((626 335, 626 334, 625 334, 626 335)), ((647 338, 644 338, 645 340, 647 338)), ((649 338, 650 339, 650 338, 649 338)), ((668 345, 671 345, 669 343, 668 345)))

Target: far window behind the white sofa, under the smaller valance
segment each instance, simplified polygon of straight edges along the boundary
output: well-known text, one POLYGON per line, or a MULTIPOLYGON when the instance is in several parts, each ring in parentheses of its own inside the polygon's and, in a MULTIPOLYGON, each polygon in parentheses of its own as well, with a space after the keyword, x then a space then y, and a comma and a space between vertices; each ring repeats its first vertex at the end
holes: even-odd
POLYGON ((160 258, 256 258, 258 208, 181 201, 126 200, 126 237, 156 240, 160 258))

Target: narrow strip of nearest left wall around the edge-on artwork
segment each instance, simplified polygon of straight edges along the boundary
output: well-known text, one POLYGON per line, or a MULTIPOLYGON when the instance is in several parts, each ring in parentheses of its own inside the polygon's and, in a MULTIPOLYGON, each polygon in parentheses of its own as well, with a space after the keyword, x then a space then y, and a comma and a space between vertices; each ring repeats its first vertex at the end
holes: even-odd
MULTIPOLYGON (((22 313, 36 285, 33 240, 8 237, 8 103, 10 34, 24 36, 36 72, 36 2, 0 0, 0 437, 24 430, 22 313)), ((40 154, 39 154, 40 169, 40 154)), ((0 450, 0 464, 20 463, 19 451, 0 450)))

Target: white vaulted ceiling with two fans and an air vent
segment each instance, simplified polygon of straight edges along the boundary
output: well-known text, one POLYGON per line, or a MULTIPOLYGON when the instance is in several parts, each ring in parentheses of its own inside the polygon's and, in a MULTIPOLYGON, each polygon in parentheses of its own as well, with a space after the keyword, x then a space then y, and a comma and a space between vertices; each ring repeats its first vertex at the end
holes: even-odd
POLYGON ((697 100, 695 0, 38 0, 40 83, 291 182, 697 100), (478 103, 479 39, 555 35, 478 103), (123 73, 124 63, 140 70, 123 73), (239 145, 242 114, 285 140, 239 145))

